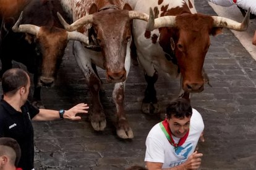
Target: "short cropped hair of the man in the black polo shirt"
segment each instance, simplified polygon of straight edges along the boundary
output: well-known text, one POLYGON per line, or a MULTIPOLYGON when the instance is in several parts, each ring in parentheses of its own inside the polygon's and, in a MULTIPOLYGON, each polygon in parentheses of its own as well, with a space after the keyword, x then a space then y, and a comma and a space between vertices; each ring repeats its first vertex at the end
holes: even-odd
POLYGON ((11 68, 2 75, 2 92, 14 95, 20 87, 28 84, 27 73, 20 68, 11 68))

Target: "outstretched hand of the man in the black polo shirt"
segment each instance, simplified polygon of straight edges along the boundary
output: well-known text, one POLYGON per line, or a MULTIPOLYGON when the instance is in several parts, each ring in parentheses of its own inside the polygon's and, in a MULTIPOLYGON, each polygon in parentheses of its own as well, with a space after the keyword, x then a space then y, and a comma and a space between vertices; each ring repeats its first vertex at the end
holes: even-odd
POLYGON ((80 103, 78 105, 75 105, 74 107, 70 108, 69 110, 66 110, 63 118, 65 119, 71 119, 71 120, 80 120, 80 116, 75 116, 77 113, 88 113, 87 109, 89 107, 85 103, 80 103))

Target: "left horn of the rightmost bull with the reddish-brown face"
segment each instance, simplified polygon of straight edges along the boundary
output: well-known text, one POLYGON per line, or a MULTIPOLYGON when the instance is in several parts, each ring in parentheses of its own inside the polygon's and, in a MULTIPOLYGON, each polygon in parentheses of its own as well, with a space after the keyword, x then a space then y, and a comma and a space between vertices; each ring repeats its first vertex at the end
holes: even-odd
POLYGON ((150 15, 147 23, 147 31, 153 31, 161 27, 173 27, 176 26, 175 22, 176 16, 164 16, 160 18, 155 18, 153 10, 150 7, 150 15))

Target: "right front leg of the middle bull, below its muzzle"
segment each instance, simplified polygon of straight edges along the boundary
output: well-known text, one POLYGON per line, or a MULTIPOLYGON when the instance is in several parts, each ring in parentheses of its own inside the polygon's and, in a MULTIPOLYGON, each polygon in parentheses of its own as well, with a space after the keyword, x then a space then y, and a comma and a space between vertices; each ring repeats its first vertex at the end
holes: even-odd
MULTIPOLYGON (((129 49, 127 49, 129 50, 129 49)), ((127 51, 126 61, 125 61, 125 68, 126 68, 126 77, 128 77, 128 73, 130 70, 130 55, 129 51, 127 51)), ((116 133, 117 136, 121 137, 122 139, 131 139, 134 137, 134 133, 132 132, 132 128, 130 128, 129 123, 127 121, 125 112, 124 112, 124 89, 125 89, 125 82, 116 83, 114 85, 113 90, 113 100, 116 105, 116 118, 117 118, 117 126, 116 126, 116 133)))

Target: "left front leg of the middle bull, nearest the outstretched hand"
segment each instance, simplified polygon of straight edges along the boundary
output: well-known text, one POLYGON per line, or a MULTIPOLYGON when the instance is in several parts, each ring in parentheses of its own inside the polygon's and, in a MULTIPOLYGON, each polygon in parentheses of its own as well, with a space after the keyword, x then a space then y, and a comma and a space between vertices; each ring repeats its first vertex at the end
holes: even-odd
MULTIPOLYGON (((101 82, 98 76, 95 74, 92 68, 92 62, 90 56, 96 57, 100 52, 93 52, 83 48, 82 44, 78 41, 74 42, 74 55, 77 60, 77 64, 83 71, 85 81, 88 84, 92 105, 90 105, 90 120, 93 129, 96 131, 103 131, 106 127, 106 116, 103 112, 103 106, 100 103, 100 86, 101 82)), ((101 54, 100 54, 101 55, 101 54)))

